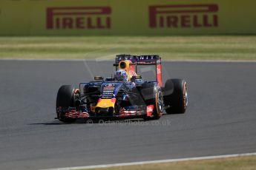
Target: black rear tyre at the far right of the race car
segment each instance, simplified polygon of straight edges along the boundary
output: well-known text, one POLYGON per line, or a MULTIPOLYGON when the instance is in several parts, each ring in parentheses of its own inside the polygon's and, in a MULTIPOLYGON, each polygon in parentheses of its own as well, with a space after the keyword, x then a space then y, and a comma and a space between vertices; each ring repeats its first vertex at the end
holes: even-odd
POLYGON ((165 82, 164 103, 167 114, 185 113, 188 106, 187 83, 183 79, 169 79, 165 82))

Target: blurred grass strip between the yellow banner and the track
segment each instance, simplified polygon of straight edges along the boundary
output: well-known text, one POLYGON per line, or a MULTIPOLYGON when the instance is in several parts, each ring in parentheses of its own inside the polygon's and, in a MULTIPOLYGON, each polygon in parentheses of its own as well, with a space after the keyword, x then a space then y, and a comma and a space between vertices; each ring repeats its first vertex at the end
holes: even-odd
POLYGON ((174 60, 256 60, 256 35, 0 37, 0 58, 113 59, 120 53, 174 60))

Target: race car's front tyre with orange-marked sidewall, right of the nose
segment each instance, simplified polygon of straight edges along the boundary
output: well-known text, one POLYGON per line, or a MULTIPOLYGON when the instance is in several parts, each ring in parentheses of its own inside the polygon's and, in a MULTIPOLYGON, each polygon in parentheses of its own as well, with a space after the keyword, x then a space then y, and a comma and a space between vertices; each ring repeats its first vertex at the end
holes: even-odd
POLYGON ((163 92, 159 86, 154 83, 142 85, 142 98, 147 106, 154 105, 151 117, 145 116, 145 120, 157 120, 163 115, 163 92))

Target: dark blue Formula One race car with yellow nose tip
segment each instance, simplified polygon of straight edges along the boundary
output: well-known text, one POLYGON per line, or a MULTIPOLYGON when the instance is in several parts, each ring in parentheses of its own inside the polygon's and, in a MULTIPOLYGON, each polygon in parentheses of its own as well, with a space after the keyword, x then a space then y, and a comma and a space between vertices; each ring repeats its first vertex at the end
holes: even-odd
POLYGON ((188 105, 186 81, 169 79, 162 85, 159 55, 116 55, 116 73, 111 78, 59 88, 56 99, 57 119, 72 123, 78 118, 159 119, 167 114, 184 113, 188 105), (137 74, 140 65, 154 65, 156 80, 145 81, 137 74))

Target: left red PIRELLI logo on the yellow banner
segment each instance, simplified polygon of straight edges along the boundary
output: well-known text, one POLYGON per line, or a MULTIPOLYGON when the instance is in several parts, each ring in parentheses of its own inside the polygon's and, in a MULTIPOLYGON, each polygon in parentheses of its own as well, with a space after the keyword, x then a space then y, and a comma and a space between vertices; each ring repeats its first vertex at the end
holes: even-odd
POLYGON ((48 7, 47 30, 111 28, 111 7, 48 7))

